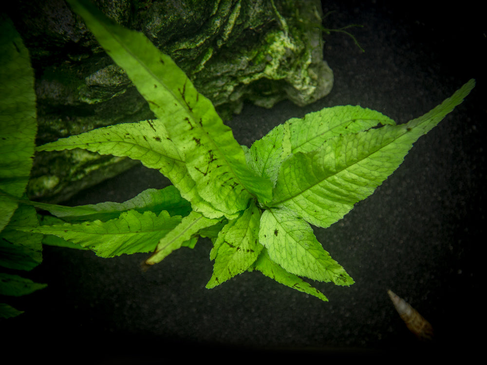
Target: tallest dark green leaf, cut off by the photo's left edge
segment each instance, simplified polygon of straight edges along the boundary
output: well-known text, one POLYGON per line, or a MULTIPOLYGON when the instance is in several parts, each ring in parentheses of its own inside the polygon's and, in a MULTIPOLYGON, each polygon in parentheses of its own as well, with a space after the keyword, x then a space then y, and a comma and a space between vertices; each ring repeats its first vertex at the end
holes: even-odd
MULTIPOLYGON (((0 14, 0 190, 21 197, 29 181, 37 133, 34 71, 12 21, 0 14)), ((0 195, 0 231, 17 202, 0 195)))

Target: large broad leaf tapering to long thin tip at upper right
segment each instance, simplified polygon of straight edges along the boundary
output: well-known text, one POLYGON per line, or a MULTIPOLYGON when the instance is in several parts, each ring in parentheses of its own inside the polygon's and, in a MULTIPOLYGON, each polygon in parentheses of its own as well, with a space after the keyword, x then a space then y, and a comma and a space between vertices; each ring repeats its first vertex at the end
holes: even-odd
POLYGON ((330 226, 371 195, 403 162, 412 144, 460 104, 474 84, 470 80, 441 105, 406 124, 339 135, 314 151, 295 153, 281 165, 270 206, 316 226, 330 226))

